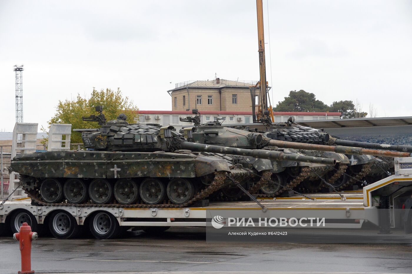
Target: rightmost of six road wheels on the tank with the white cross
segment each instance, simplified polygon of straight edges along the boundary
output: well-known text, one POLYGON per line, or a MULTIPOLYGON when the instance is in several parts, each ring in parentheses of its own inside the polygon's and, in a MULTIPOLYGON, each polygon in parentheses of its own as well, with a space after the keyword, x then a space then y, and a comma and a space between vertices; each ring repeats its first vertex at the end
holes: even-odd
POLYGON ((167 184, 167 197, 173 204, 184 204, 194 196, 193 183, 185 178, 175 178, 167 184))

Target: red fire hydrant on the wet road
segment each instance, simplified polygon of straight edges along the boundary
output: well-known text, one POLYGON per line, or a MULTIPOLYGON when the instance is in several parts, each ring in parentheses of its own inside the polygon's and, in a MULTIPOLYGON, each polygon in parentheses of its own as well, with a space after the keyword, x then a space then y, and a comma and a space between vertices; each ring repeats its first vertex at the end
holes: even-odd
POLYGON ((34 270, 31 270, 31 241, 37 238, 37 232, 31 232, 30 225, 27 223, 21 225, 19 233, 14 233, 13 239, 19 241, 21 252, 21 271, 18 273, 34 273, 34 270))

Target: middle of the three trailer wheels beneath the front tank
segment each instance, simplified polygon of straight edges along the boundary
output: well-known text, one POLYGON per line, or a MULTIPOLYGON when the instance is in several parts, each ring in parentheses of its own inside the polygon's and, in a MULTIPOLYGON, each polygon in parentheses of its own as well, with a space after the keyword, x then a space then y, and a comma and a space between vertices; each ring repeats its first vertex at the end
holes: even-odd
POLYGON ((49 218, 49 229, 57 239, 70 239, 76 237, 80 227, 73 216, 67 211, 53 212, 49 218))

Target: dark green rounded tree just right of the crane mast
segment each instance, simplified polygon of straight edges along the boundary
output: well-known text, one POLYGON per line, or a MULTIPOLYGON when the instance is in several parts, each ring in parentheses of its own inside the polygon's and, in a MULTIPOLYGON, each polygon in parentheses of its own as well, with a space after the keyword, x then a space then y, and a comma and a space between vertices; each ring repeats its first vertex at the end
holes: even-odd
POLYGON ((274 111, 327 111, 328 105, 321 100, 316 100, 313 93, 300 91, 290 91, 289 96, 285 97, 285 100, 278 102, 274 111))

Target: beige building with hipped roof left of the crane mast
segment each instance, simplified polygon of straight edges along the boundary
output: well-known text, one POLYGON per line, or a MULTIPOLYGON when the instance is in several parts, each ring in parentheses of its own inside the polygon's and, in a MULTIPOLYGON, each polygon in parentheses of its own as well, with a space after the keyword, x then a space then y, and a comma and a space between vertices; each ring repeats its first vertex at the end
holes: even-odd
MULTIPOLYGON (((257 81, 232 81, 216 78, 211 81, 186 81, 167 91, 172 110, 186 111, 252 111, 250 86, 257 81)), ((259 89, 257 88, 257 93, 259 89)))

